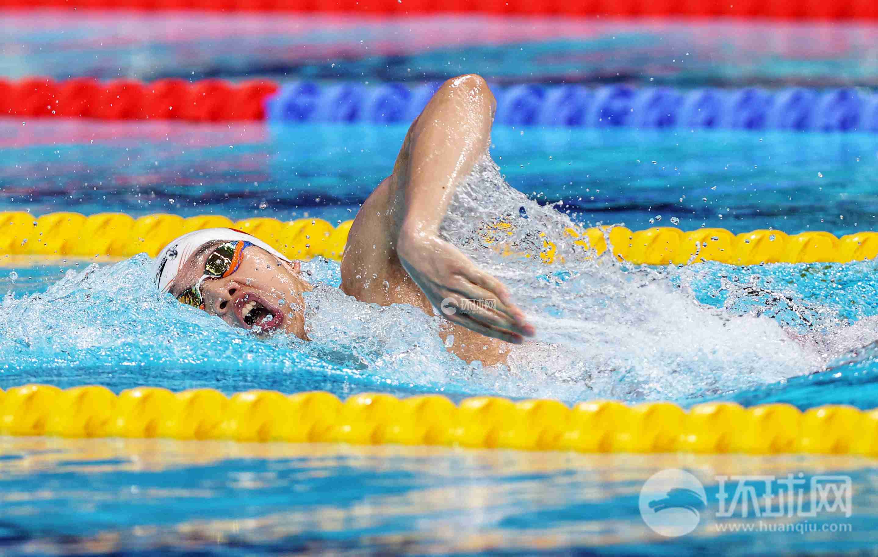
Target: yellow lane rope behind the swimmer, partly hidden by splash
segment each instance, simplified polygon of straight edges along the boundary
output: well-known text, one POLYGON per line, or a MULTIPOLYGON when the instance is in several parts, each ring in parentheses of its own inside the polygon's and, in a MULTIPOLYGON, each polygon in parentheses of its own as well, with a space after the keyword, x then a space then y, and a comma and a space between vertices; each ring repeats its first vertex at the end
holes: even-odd
MULTIPOLYGON (((339 261, 353 221, 333 227, 322 219, 279 221, 253 218, 232 221, 219 215, 183 218, 175 214, 149 214, 133 218, 124 213, 0 213, 0 256, 131 257, 145 252, 155 257, 168 242, 192 230, 237 228, 268 242, 287 257, 326 257, 339 261)), ((505 223, 489 227, 492 242, 511 235, 505 223)), ((567 228, 564 238, 543 237, 539 257, 556 260, 559 242, 572 242, 597 254, 607 250, 607 240, 616 257, 634 264, 695 264, 716 261, 725 264, 762 263, 849 263, 878 257, 878 233, 859 232, 841 238, 829 232, 787 235, 780 230, 753 230, 733 234, 723 228, 684 231, 656 227, 632 231, 629 228, 567 228)), ((511 252, 510 252, 511 253, 511 252)))

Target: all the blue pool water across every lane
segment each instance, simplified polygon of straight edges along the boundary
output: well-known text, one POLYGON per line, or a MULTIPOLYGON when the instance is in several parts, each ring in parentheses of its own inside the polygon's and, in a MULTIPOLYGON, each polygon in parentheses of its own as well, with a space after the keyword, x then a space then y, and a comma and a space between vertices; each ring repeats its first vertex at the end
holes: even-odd
MULTIPOLYGON (((823 23, 4 12, 0 76, 369 85, 476 71, 509 84, 871 87, 875 37, 874 25, 823 23)), ((405 129, 0 119, 0 211, 335 224, 392 168, 405 129)), ((875 229, 874 134, 498 126, 493 142, 508 183, 543 206, 528 210, 544 221, 561 202, 572 221, 633 229, 672 218, 734 232, 875 229)), ((483 369, 444 350, 437 318, 343 299, 332 262, 305 264, 320 285, 305 344, 256 341, 156 293, 144 256, 0 257, 0 387, 871 409, 875 266, 525 266, 501 278, 522 296, 539 342, 508 367, 483 369)), ((0 438, 0 554, 866 554, 878 528, 874 470, 874 459, 817 456, 0 438), (695 474, 708 496, 699 526, 678 539, 651 532, 638 510, 644 481, 671 467, 695 474), (774 522, 851 530, 719 532, 723 474, 847 476, 850 517, 774 522)), ((752 515, 738 522, 759 526, 752 515)))

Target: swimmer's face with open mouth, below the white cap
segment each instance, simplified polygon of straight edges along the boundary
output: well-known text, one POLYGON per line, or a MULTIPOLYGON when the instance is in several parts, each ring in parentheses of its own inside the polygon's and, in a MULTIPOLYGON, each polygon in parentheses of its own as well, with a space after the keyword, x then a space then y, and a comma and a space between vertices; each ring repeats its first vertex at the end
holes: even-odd
MULTIPOLYGON (((170 285, 175 298, 186 299, 187 291, 205 275, 205 265, 224 241, 207 242, 189 257, 170 285)), ((225 258, 214 256, 214 261, 225 258)), ((311 286, 301 279, 299 262, 287 263, 255 245, 241 250, 241 262, 224 278, 208 277, 199 287, 204 309, 233 327, 257 335, 284 331, 299 338, 305 335, 303 292, 311 286)), ((210 274, 210 273, 208 273, 210 274)))

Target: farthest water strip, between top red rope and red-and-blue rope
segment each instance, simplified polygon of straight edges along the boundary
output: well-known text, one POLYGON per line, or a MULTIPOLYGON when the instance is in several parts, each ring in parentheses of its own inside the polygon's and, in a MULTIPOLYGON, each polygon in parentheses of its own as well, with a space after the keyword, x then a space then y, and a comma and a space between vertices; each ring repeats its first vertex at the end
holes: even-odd
POLYGON ((876 36, 867 24, 729 19, 12 11, 0 16, 0 76, 874 87, 876 36))

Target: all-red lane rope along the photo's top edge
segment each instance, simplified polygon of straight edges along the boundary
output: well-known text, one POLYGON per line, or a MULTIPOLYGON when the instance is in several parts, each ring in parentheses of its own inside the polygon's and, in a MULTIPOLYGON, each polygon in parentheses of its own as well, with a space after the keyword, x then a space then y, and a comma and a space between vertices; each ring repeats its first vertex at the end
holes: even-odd
POLYGON ((875 0, 0 0, 4 8, 878 19, 875 0))

